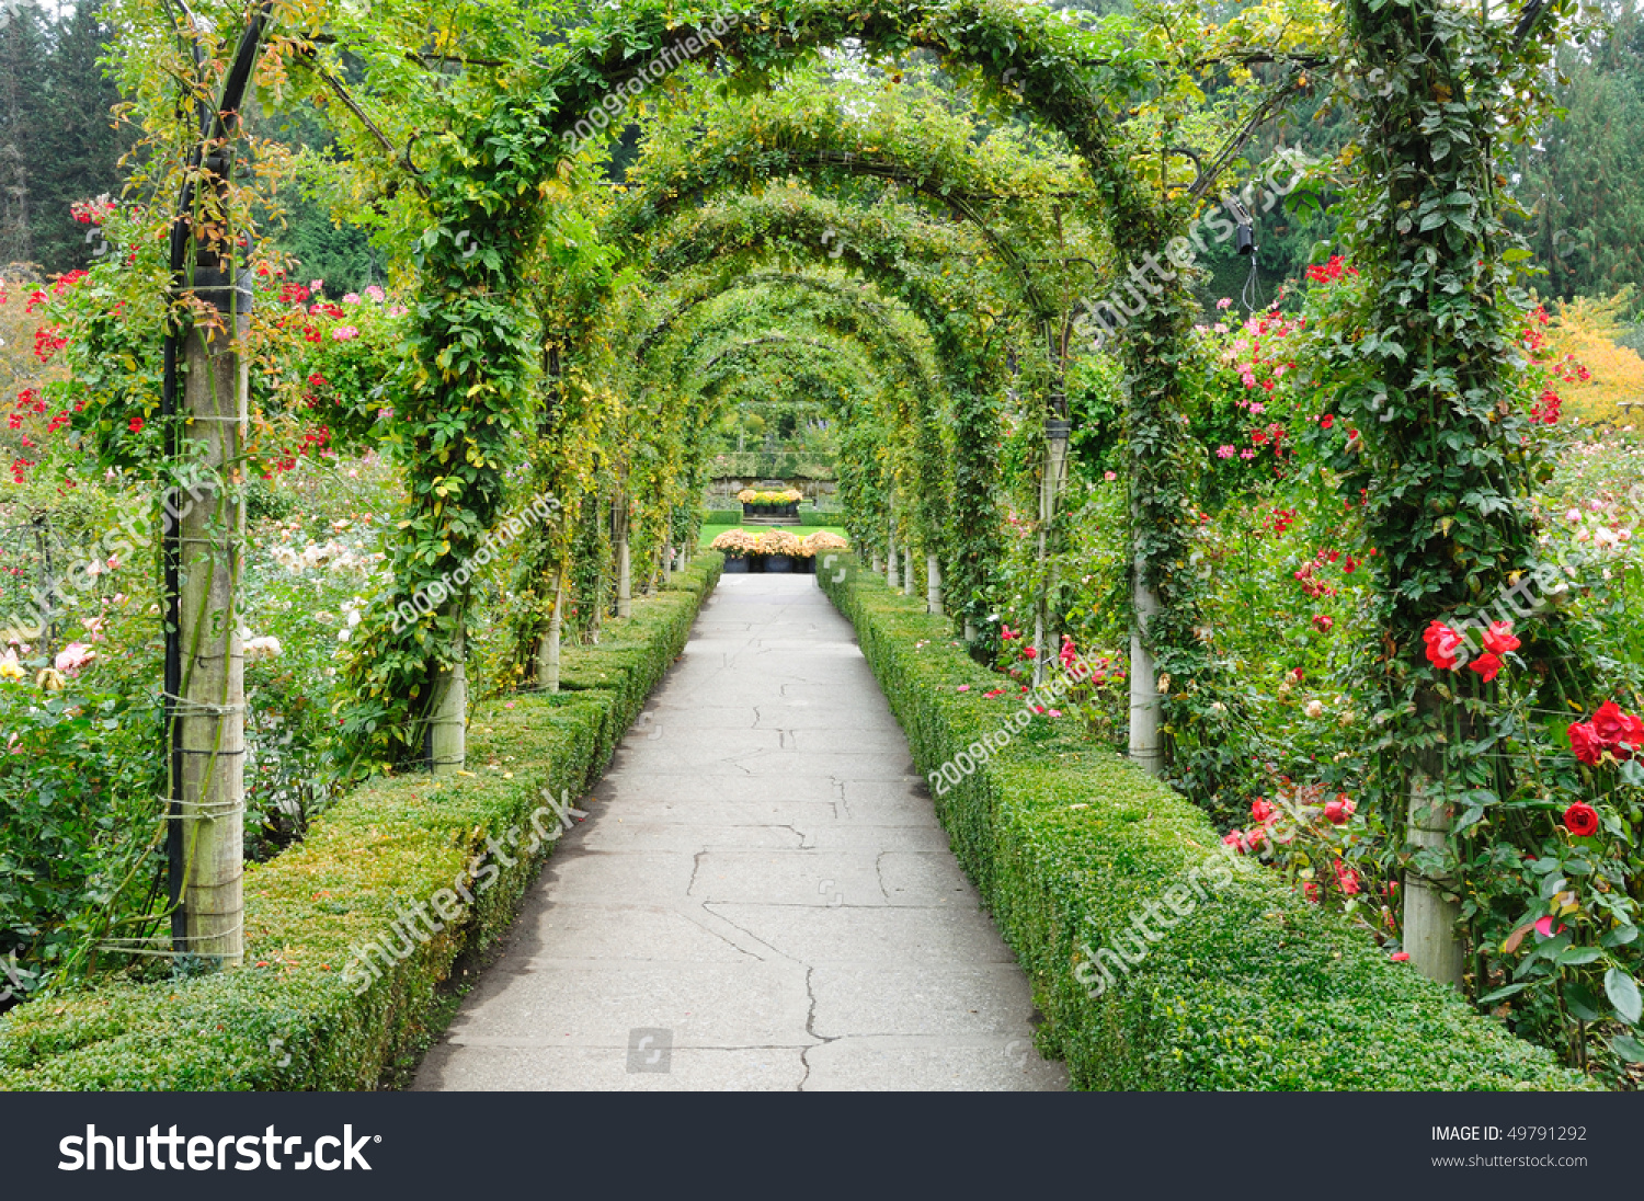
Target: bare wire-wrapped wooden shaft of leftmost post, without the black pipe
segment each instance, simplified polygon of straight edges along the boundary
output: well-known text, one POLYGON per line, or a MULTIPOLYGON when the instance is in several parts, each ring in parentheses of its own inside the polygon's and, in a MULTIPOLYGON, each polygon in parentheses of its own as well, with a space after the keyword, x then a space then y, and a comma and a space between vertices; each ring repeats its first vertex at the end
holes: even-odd
POLYGON ((252 297, 225 278, 199 288, 201 276, 206 271, 196 274, 197 294, 217 315, 184 342, 182 450, 201 475, 178 529, 182 680, 173 762, 181 764, 181 787, 173 795, 182 830, 182 920, 173 932, 181 933, 178 950, 237 964, 245 955, 245 657, 235 611, 245 503, 237 476, 248 371, 235 342, 250 330, 252 297))

